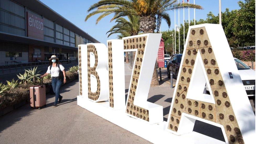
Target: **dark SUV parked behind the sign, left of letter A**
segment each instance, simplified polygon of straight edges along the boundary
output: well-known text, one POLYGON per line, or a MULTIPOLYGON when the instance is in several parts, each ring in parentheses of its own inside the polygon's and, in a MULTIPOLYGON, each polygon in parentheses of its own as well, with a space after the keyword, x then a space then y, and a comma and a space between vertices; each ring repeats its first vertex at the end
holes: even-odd
POLYGON ((174 77, 177 78, 180 68, 182 54, 174 54, 171 56, 170 60, 167 63, 167 76, 170 78, 170 70, 173 72, 174 77))

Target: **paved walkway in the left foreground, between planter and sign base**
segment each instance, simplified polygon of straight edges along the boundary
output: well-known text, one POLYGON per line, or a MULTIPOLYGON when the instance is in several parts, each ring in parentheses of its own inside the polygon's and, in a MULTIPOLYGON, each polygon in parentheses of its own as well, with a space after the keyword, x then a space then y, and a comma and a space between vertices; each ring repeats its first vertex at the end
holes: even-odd
POLYGON ((0 117, 0 143, 149 143, 77 105, 78 80, 61 87, 63 103, 30 110, 24 105, 0 117))

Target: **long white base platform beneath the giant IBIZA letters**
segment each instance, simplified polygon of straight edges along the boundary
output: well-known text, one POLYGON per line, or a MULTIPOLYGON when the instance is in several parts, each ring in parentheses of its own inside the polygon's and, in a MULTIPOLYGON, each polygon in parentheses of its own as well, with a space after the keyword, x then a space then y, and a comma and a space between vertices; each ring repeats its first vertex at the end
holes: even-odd
POLYGON ((138 119, 128 116, 125 113, 125 108, 113 110, 109 107, 108 101, 94 103, 88 100, 87 97, 77 96, 77 105, 152 143, 225 143, 197 132, 190 132, 180 136, 172 134, 165 130, 167 125, 166 121, 150 125, 145 121, 139 121, 138 119))

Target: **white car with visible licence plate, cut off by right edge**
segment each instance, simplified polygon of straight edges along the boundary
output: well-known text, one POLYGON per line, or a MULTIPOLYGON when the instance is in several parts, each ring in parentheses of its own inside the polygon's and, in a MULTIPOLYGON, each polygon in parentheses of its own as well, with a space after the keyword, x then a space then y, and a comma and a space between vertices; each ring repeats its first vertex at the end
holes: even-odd
POLYGON ((255 96, 255 71, 237 58, 234 60, 247 95, 255 96))

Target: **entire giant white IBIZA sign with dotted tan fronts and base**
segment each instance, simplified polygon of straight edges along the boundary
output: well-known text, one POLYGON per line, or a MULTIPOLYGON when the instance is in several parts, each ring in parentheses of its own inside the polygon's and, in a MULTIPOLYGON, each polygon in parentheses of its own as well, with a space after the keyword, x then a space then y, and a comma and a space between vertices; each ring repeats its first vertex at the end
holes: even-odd
POLYGON ((147 102, 160 39, 79 45, 77 104, 153 143, 221 142, 193 133, 195 120, 220 127, 226 143, 252 143, 255 116, 221 25, 190 26, 167 122, 163 107, 147 102), (136 55, 125 100, 126 51, 136 55))

